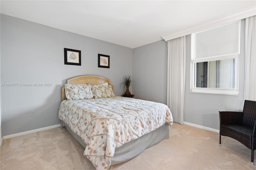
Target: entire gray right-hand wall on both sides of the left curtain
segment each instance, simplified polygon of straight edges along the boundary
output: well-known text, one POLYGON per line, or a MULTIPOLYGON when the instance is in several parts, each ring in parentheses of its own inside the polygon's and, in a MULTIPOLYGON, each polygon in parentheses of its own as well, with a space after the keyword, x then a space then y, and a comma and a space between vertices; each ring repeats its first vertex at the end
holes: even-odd
MULTIPOLYGON (((219 129, 218 111, 242 111, 244 105, 244 20, 241 29, 239 95, 190 93, 191 36, 186 36, 184 121, 219 129)), ((134 94, 166 104, 167 43, 158 41, 133 49, 134 94)))

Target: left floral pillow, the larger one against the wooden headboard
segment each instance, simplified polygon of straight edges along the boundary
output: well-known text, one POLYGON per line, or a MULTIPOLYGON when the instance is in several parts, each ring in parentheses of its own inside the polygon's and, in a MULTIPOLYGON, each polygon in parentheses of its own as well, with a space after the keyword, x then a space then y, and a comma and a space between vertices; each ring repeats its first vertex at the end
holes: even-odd
POLYGON ((86 84, 65 84, 66 98, 69 100, 92 99, 92 86, 86 84))

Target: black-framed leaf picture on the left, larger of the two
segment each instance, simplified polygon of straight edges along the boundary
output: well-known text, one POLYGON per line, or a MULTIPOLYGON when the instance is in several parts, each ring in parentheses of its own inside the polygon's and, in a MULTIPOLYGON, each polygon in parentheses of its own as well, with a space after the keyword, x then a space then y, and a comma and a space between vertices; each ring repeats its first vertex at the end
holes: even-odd
POLYGON ((64 64, 81 65, 81 51, 64 48, 64 64))

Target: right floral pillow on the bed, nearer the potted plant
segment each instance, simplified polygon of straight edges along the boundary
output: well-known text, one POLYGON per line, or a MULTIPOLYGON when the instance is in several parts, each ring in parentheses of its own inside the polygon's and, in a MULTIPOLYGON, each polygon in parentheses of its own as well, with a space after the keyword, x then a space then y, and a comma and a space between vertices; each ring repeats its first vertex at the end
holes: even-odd
POLYGON ((92 94, 94 98, 114 97, 112 85, 92 85, 92 94))

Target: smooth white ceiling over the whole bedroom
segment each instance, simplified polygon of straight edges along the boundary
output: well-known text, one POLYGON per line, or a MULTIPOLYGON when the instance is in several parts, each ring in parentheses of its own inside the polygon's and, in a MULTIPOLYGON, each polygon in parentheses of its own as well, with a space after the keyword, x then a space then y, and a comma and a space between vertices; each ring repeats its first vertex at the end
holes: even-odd
POLYGON ((256 0, 1 0, 0 12, 130 48, 256 5, 256 0))

